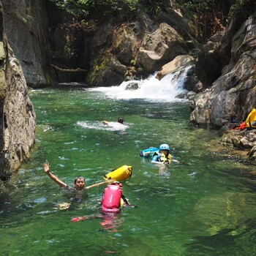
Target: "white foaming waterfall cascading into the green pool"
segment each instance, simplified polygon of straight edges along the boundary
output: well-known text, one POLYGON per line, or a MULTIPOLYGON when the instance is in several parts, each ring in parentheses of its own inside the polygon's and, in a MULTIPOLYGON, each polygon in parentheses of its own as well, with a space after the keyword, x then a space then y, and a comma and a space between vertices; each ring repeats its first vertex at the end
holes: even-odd
POLYGON ((89 91, 101 91, 110 99, 148 99, 153 101, 180 101, 176 96, 184 91, 184 80, 187 78, 187 71, 190 67, 184 69, 183 72, 178 71, 168 74, 162 80, 155 78, 154 75, 149 76, 145 80, 131 80, 121 83, 120 86, 98 87, 88 89, 89 91), (129 89, 129 85, 137 84, 138 89, 129 89))

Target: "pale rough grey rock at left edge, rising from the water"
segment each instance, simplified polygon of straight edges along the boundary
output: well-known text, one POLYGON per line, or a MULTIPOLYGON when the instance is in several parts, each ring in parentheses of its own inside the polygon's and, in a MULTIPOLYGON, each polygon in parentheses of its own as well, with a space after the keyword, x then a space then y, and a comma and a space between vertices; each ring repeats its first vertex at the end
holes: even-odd
POLYGON ((6 180, 30 157, 36 117, 19 61, 4 35, 0 43, 0 179, 6 180))

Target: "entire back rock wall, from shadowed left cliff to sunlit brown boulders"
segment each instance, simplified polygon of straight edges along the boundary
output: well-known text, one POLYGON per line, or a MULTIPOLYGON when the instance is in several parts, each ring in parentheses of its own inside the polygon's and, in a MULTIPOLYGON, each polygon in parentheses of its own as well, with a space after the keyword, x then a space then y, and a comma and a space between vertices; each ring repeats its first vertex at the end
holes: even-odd
MULTIPOLYGON (((61 82, 113 86, 150 75, 199 45, 194 18, 168 10, 152 18, 78 26, 51 1, 3 0, 7 39, 31 87, 61 82), (193 23, 194 22, 194 23, 193 23), (189 24, 189 26, 188 26, 189 24)), ((98 18, 99 19, 99 18, 98 18)))

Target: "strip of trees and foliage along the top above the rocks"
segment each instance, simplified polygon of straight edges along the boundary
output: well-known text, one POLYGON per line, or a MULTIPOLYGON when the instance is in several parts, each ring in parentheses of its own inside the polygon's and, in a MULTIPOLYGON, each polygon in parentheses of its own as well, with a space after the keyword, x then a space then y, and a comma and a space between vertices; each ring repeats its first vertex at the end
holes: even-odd
POLYGON ((91 17, 126 17, 157 15, 168 8, 183 8, 195 12, 198 35, 210 37, 223 30, 227 21, 239 13, 256 17, 255 0, 50 0, 61 10, 76 17, 90 20, 91 17))

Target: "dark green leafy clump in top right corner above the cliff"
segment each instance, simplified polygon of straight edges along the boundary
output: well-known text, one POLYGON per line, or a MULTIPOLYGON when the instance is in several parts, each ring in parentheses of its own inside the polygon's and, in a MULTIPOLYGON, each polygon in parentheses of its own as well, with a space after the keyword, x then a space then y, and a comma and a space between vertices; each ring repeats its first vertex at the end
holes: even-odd
POLYGON ((256 1, 255 0, 236 0, 236 3, 230 7, 229 19, 246 12, 248 16, 256 18, 256 1))

